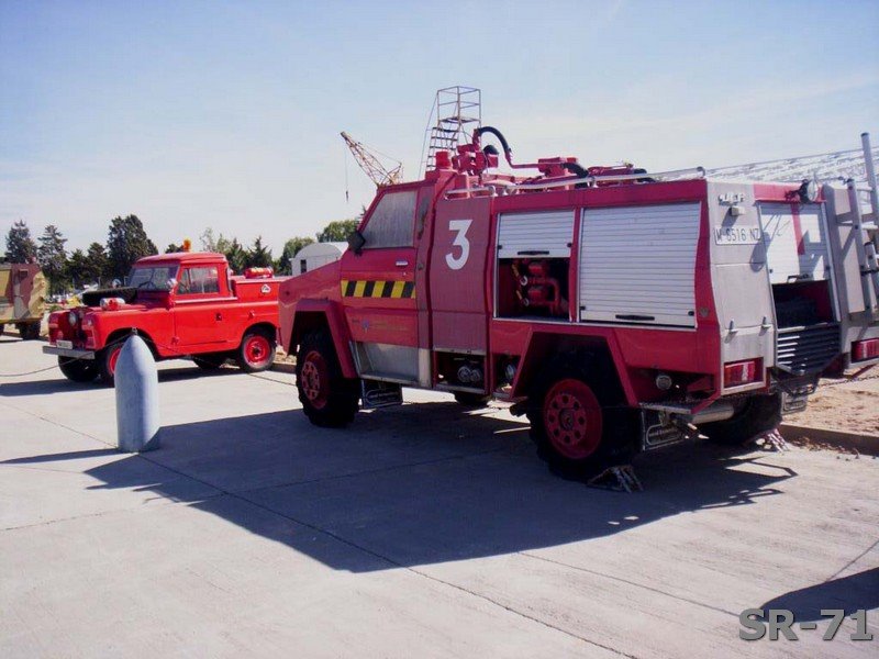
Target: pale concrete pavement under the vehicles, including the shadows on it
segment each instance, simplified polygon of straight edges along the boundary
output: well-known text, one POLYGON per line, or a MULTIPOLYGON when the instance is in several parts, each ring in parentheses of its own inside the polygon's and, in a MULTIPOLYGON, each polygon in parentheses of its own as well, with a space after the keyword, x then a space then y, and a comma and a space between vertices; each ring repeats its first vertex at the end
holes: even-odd
MULTIPOLYGON (((0 375, 53 364, 0 338, 0 375)), ((311 426, 292 376, 160 365, 163 448, 112 390, 0 379, 0 656, 875 657, 879 460, 710 445, 646 491, 567 482, 503 411, 408 392, 311 426), (746 643, 738 614, 819 629, 746 643)))

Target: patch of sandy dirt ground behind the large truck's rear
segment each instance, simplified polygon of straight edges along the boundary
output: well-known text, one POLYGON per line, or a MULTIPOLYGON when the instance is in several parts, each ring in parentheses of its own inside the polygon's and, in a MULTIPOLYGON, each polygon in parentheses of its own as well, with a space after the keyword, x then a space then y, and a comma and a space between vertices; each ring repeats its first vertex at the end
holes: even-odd
POLYGON ((822 381, 804 412, 790 414, 786 423, 879 435, 879 367, 865 373, 867 380, 822 381))

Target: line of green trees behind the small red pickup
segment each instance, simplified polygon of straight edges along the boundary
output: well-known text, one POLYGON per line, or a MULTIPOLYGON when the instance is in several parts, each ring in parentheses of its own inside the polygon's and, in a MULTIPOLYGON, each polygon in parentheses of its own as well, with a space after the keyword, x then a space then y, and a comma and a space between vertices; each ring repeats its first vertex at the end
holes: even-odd
MULTIPOLYGON (((201 249, 224 254, 230 267, 242 272, 252 267, 271 267, 278 275, 291 275, 290 261, 305 245, 314 243, 342 242, 357 228, 359 217, 330 222, 314 238, 297 236, 288 239, 280 256, 274 259, 271 249, 263 244, 263 236, 257 236, 249 246, 243 245, 236 237, 226 238, 215 235, 208 227, 200 236, 201 249)), ((63 293, 73 289, 98 283, 109 283, 113 279, 123 279, 131 266, 138 258, 158 254, 155 243, 149 239, 143 222, 137 215, 114 217, 110 221, 107 244, 91 243, 84 252, 74 249, 68 253, 67 238, 60 230, 49 224, 43 234, 34 239, 31 230, 23 220, 15 222, 7 234, 5 260, 13 264, 40 264, 43 273, 49 280, 49 293, 63 293)), ((165 254, 180 252, 180 245, 171 243, 165 254)))

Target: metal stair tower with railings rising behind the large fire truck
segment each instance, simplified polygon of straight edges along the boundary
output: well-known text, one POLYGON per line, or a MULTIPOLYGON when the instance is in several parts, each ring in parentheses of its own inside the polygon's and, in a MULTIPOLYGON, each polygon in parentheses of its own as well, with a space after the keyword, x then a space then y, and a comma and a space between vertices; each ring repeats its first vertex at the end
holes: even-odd
POLYGON ((425 131, 426 157, 422 149, 423 171, 436 165, 436 152, 448 150, 469 142, 474 129, 482 125, 482 91, 476 87, 446 87, 436 91, 425 131), (436 123, 431 120, 436 116, 436 123))

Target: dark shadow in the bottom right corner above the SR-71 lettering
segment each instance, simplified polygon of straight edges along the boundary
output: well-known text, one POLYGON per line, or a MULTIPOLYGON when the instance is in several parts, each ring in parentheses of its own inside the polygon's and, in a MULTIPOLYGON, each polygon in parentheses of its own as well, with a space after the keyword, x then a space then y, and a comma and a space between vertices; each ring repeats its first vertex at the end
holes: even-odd
POLYGON ((846 615, 879 608, 879 568, 785 593, 761 608, 787 608, 798 622, 826 619, 822 608, 842 608, 846 615))

